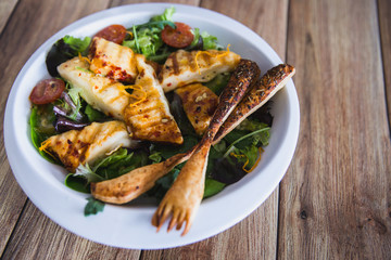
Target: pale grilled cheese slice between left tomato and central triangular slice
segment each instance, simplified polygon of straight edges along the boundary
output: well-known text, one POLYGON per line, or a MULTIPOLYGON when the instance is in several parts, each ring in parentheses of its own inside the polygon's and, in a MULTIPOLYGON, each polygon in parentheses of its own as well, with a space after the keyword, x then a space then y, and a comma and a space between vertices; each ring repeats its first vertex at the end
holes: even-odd
POLYGON ((123 120, 123 112, 131 101, 124 84, 94 75, 88 68, 87 61, 74 57, 62 63, 58 70, 61 77, 80 91, 80 96, 93 108, 123 120))

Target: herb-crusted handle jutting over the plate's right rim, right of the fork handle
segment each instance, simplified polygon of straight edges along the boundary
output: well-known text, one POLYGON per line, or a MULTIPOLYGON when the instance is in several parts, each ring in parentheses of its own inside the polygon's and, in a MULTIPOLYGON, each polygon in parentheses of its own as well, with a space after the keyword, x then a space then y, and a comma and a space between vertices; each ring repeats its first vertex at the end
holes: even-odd
POLYGON ((295 69, 291 65, 280 64, 269 69, 245 94, 243 100, 229 115, 218 130, 213 143, 218 143, 227 133, 236 128, 248 116, 263 106, 287 81, 294 75, 295 69))

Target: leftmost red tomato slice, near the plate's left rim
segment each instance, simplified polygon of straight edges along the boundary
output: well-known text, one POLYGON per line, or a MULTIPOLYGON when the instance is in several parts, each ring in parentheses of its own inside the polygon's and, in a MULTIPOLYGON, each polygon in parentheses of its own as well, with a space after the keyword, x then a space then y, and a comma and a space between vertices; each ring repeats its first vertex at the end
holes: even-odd
POLYGON ((43 79, 34 87, 29 100, 37 105, 49 104, 59 99, 64 89, 65 82, 61 79, 43 79))

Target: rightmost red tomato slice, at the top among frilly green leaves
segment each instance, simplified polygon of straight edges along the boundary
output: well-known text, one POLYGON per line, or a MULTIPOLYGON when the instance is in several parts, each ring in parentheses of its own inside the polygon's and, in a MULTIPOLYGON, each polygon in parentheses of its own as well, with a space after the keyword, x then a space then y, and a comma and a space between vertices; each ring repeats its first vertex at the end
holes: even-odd
POLYGON ((176 29, 166 25, 162 30, 163 41, 174 48, 185 48, 191 44, 194 35, 191 32, 191 27, 184 23, 175 23, 176 29))

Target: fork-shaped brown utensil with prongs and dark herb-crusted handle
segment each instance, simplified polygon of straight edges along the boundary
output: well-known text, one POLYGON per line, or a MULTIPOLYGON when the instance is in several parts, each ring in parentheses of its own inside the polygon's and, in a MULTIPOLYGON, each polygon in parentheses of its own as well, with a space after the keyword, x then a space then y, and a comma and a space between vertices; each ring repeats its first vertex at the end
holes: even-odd
POLYGON ((260 68, 254 62, 240 61, 219 98, 219 104, 199 146, 181 169, 152 217, 152 224, 157 227, 157 231, 165 220, 172 217, 168 231, 174 226, 180 230, 186 222, 182 235, 189 232, 203 197, 207 155, 212 141, 229 113, 243 98, 248 88, 251 88, 251 83, 255 81, 253 79, 258 76, 260 68))

